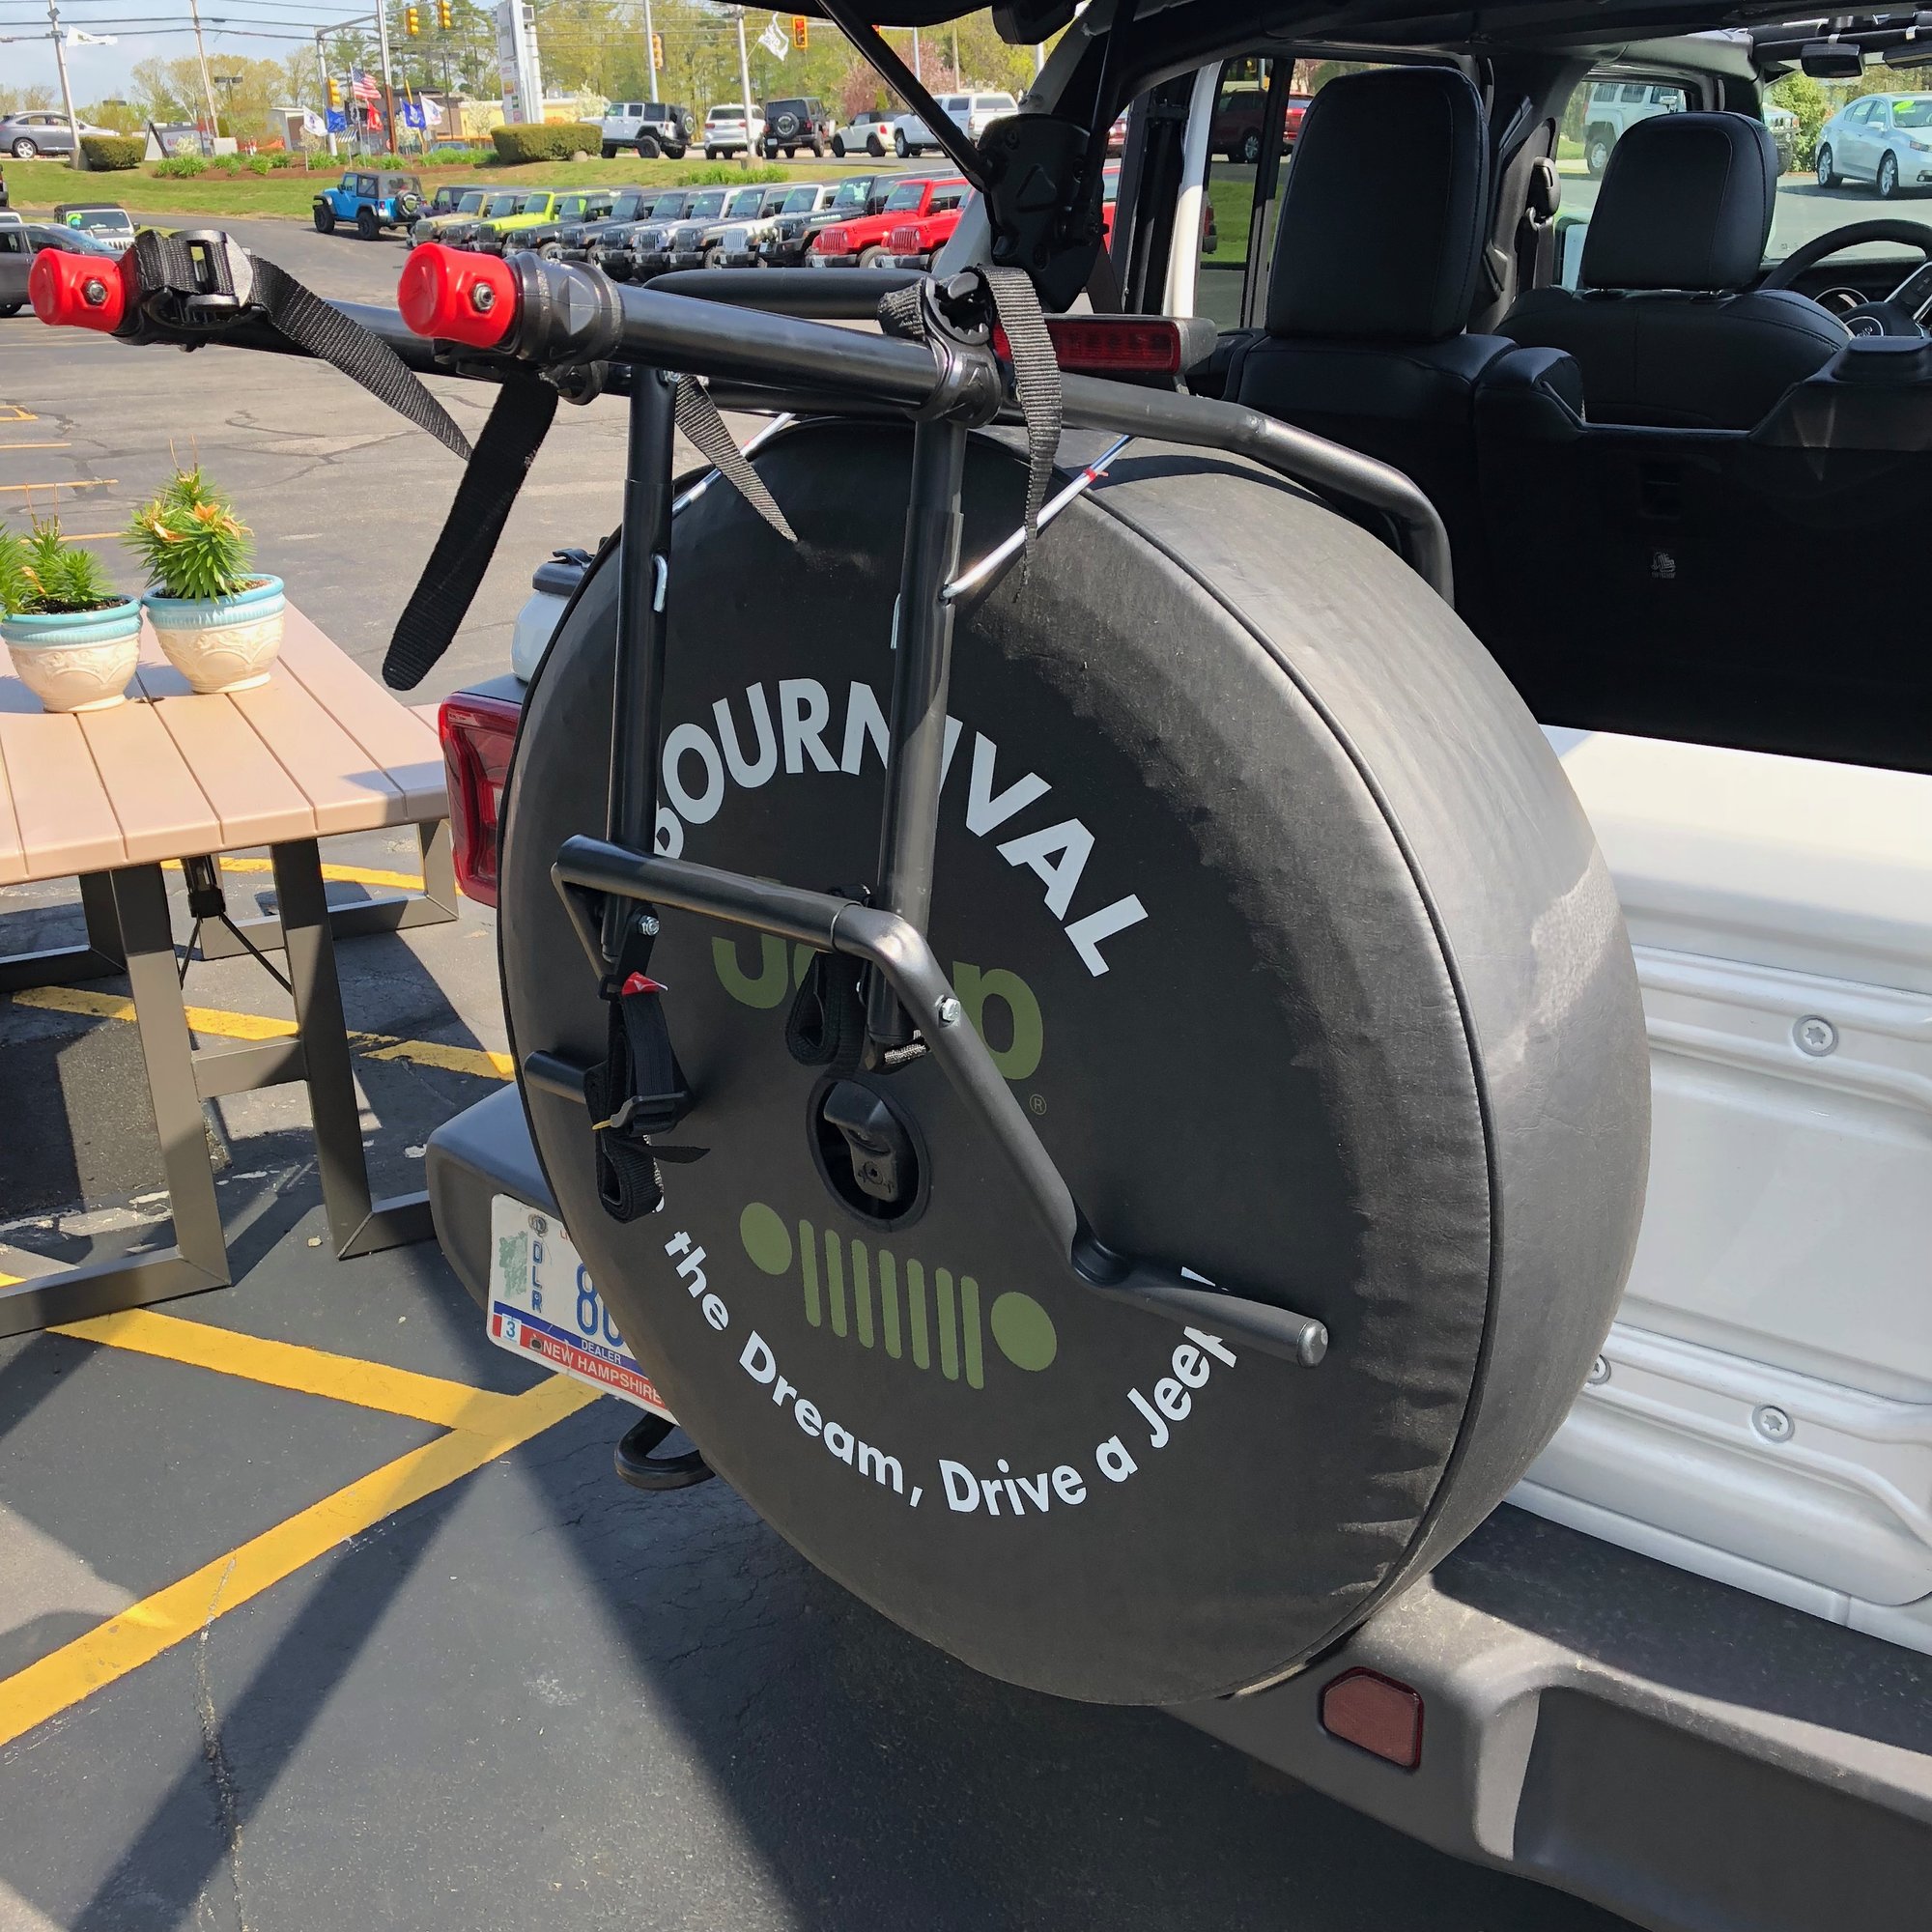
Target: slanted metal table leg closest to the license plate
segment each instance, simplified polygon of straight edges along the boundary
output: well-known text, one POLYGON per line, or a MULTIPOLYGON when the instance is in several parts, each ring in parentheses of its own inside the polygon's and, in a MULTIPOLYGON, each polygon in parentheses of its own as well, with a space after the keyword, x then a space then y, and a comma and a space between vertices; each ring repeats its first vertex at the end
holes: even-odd
POLYGON ((361 1107, 350 1068, 348 1020, 336 978, 323 862, 313 838, 270 848, 274 891, 282 910, 282 943, 296 995, 296 1028, 315 1122, 315 1157, 328 1206, 336 1256, 373 1254, 435 1233, 427 1194, 398 1194, 371 1202, 369 1163, 361 1146, 361 1107))

